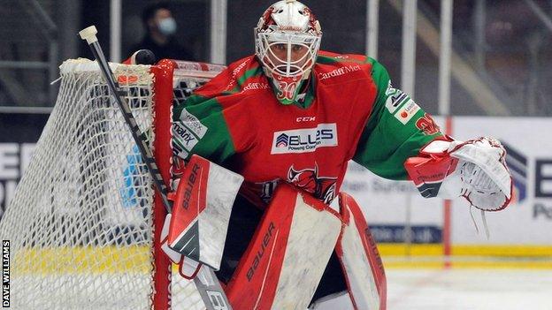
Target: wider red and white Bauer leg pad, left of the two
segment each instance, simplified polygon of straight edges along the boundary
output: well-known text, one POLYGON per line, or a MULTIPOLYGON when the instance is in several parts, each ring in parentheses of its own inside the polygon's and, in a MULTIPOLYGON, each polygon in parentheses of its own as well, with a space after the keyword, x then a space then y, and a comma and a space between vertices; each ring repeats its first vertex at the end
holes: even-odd
POLYGON ((226 295, 235 309, 305 309, 341 231, 334 210, 280 185, 226 295))

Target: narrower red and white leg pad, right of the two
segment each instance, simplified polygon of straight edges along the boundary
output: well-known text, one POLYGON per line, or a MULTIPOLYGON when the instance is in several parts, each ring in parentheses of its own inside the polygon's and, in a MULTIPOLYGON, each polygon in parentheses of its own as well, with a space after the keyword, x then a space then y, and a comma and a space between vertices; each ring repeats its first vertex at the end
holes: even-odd
POLYGON ((345 226, 336 246, 349 295, 355 309, 385 310, 386 276, 380 253, 357 202, 340 194, 341 216, 345 226))

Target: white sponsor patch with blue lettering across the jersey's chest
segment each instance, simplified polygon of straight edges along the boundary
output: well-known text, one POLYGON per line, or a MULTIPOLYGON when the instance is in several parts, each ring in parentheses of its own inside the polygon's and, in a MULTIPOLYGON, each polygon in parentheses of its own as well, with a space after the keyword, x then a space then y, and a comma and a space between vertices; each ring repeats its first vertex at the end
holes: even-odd
POLYGON ((271 154, 309 153, 318 147, 337 146, 337 126, 318 124, 315 128, 274 132, 271 154))

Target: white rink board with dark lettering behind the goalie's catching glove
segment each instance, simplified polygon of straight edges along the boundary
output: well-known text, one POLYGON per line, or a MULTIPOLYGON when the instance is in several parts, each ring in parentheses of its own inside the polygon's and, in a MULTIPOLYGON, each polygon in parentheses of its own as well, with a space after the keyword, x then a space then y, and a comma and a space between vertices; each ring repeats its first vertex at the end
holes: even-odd
MULTIPOLYGON (((435 120, 444 130, 444 118, 435 117, 435 120)), ((490 231, 488 239, 483 232, 479 210, 472 210, 479 228, 478 233, 472 222, 469 204, 464 200, 454 200, 451 216, 453 254, 462 254, 465 246, 472 246, 475 250, 470 251, 473 253, 510 251, 511 256, 517 256, 516 253, 535 256, 535 253, 542 252, 536 249, 541 248, 550 257, 552 139, 546 136, 546 133, 552 132, 550 118, 452 117, 451 124, 452 136, 457 140, 479 136, 492 136, 501 140, 510 151, 508 162, 515 182, 515 198, 510 207, 486 215, 490 231), (460 247, 455 251, 454 246, 460 247), (496 250, 496 246, 503 247, 496 250)), ((356 163, 350 163, 342 190, 354 196, 359 205, 364 207, 371 226, 443 227, 443 200, 422 198, 409 182, 385 180, 356 163)), ((387 235, 392 233, 401 234, 402 231, 387 231, 387 235)), ((380 234, 384 238, 380 241, 386 241, 385 238, 389 237, 387 235, 380 234)), ((375 237, 378 238, 378 235, 375 237)), ((399 236, 401 238, 404 241, 405 236, 399 236)), ((417 243, 416 240, 411 241, 417 243)), ((430 240, 427 243, 436 244, 441 241, 430 240)), ((385 251, 383 252, 385 255, 385 251)))

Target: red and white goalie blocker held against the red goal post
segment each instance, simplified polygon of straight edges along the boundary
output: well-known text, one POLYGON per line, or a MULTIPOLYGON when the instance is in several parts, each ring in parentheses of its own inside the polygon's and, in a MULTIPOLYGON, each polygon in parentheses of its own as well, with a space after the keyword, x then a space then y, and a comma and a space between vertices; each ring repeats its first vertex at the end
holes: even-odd
POLYGON ((165 218, 162 248, 180 264, 180 275, 193 278, 199 263, 219 269, 230 211, 243 177, 198 155, 181 175, 173 214, 165 218))

